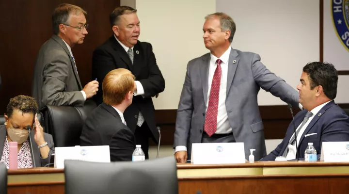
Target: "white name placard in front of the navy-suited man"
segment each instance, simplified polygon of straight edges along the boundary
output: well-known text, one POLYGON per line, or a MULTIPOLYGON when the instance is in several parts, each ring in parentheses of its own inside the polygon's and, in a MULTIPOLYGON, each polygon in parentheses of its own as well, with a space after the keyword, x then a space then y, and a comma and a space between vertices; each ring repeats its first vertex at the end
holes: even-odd
POLYGON ((349 142, 322 142, 321 161, 349 162, 349 142))

